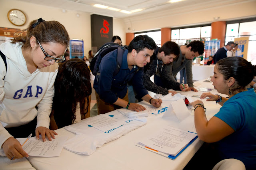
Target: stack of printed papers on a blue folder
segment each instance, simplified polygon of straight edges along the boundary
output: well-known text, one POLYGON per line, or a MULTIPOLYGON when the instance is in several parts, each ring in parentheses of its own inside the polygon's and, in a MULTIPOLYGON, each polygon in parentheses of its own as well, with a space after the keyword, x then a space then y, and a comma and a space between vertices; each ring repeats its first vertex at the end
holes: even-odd
POLYGON ((167 126, 140 140, 136 146, 175 159, 196 138, 197 135, 193 132, 167 126))

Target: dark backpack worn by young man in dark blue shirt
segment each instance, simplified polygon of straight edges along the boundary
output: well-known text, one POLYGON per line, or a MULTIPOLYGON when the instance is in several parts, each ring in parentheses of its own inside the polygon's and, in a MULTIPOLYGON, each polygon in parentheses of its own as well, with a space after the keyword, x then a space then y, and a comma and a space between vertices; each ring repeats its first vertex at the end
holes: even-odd
POLYGON ((122 64, 124 50, 127 49, 127 46, 120 46, 117 43, 108 42, 102 45, 97 51, 97 53, 94 55, 94 57, 92 58, 92 61, 90 63, 90 70, 92 71, 93 75, 95 76, 100 75, 98 71, 99 71, 99 66, 102 58, 107 53, 114 51, 115 49, 118 49, 118 51, 117 51, 117 57, 116 57, 117 65, 116 65, 116 70, 114 71, 114 75, 118 73, 122 64))

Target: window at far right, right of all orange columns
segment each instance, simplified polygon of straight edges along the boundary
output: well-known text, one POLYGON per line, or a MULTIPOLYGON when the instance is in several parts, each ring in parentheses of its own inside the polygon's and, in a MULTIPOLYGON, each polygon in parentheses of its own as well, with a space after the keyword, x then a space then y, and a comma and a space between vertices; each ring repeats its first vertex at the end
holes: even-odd
MULTIPOLYGON (((256 64, 256 18, 227 22, 225 42, 234 41, 235 38, 249 37, 247 60, 256 64)), ((226 44, 225 43, 225 44, 226 44)))

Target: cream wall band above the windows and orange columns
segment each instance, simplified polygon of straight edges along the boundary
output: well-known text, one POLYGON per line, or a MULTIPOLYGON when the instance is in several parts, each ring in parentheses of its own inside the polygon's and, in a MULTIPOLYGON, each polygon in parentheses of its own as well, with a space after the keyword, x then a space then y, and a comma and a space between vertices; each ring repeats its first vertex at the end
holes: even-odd
POLYGON ((199 24, 210 24, 216 21, 236 20, 256 16, 256 0, 237 1, 224 6, 203 8, 188 6, 174 10, 162 10, 153 14, 142 14, 124 19, 126 32, 140 32, 160 28, 175 28, 199 24), (214 20, 214 17, 220 17, 214 20), (131 28, 128 30, 127 28, 131 28))

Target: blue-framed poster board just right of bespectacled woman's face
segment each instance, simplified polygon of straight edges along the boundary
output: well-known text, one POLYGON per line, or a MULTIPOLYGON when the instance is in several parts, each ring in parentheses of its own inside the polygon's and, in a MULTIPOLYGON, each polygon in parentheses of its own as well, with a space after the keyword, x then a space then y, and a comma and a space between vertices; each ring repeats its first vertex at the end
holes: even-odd
POLYGON ((83 40, 70 40, 70 59, 84 58, 84 41, 83 40))

